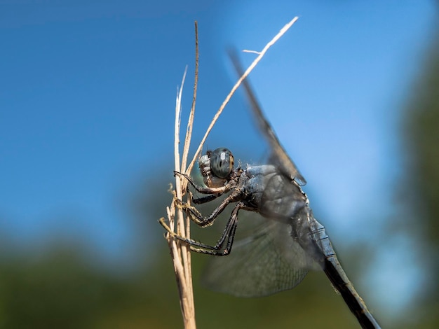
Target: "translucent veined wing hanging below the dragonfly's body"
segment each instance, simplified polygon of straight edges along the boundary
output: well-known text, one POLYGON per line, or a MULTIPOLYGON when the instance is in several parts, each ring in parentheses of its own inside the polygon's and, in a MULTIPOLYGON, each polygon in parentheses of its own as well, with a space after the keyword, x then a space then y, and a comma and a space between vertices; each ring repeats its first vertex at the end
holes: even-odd
POLYGON ((290 232, 290 225, 264 219, 234 242, 230 255, 210 260, 203 284, 238 297, 264 296, 294 288, 316 265, 306 258, 290 232))

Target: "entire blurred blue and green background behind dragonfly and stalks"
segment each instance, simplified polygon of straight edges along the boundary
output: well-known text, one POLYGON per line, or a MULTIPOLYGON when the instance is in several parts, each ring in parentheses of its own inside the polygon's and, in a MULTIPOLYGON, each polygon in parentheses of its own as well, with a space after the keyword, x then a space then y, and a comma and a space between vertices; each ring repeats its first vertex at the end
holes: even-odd
MULTIPOLYGON (((157 220, 194 20, 198 145, 236 80, 227 47, 262 50, 296 15, 257 97, 381 325, 439 327, 438 3, 166 0, 0 1, 0 328, 182 328, 157 220)), ((206 144, 243 164, 266 151, 246 107, 236 94, 206 144)), ((323 273, 239 299, 200 286, 206 257, 199 328, 358 328, 323 273)))

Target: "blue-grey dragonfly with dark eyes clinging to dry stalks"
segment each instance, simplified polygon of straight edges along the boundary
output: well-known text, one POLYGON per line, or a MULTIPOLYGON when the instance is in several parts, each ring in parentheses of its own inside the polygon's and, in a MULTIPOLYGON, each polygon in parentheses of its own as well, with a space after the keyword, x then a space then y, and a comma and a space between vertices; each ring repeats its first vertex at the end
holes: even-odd
MULTIPOLYGON (((241 73, 238 62, 233 62, 241 73)), ((294 288, 310 269, 323 269, 361 327, 380 328, 340 265, 325 227, 314 218, 302 190, 306 181, 266 120, 248 79, 243 80, 243 87, 253 117, 270 146, 268 164, 234 167, 231 151, 217 148, 198 160, 205 186, 175 172, 205 195, 192 197, 194 204, 226 195, 210 216, 203 216, 195 206, 179 201, 197 225, 210 226, 227 207, 234 207, 215 246, 170 233, 189 244, 192 251, 224 256, 217 257, 204 275, 205 284, 213 290, 239 297, 271 295, 294 288), (234 241, 241 210, 257 213, 264 219, 244 239, 234 241)))

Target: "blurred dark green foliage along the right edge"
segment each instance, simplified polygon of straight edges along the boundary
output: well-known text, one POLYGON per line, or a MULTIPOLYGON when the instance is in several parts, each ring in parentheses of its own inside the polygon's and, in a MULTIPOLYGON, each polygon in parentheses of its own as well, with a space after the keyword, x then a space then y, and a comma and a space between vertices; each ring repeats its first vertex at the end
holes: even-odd
POLYGON ((439 328, 439 31, 423 66, 405 115, 410 162, 405 196, 414 214, 410 230, 421 236, 419 245, 430 272, 428 287, 414 308, 423 318, 422 328, 439 328))

